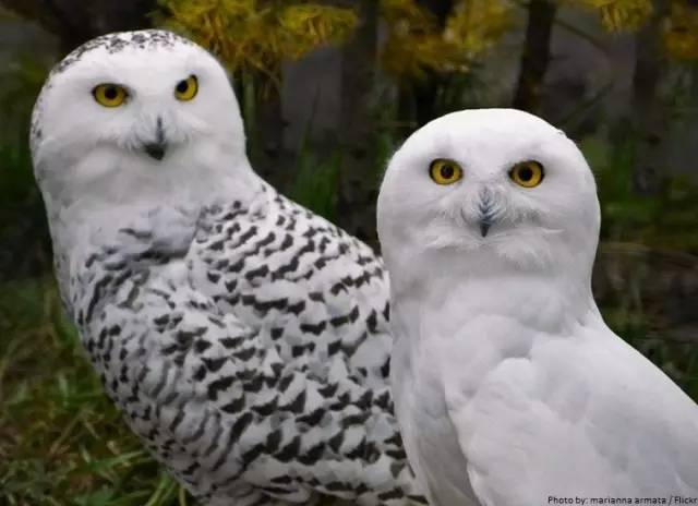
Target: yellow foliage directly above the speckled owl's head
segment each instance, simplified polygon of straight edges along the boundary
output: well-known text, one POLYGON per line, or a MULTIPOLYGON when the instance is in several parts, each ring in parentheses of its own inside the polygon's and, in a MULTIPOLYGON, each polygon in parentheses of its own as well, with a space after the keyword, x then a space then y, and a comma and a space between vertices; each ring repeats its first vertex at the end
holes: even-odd
POLYGON ((165 24, 217 55, 231 70, 273 81, 285 59, 344 40, 357 24, 351 9, 296 1, 159 0, 165 24))

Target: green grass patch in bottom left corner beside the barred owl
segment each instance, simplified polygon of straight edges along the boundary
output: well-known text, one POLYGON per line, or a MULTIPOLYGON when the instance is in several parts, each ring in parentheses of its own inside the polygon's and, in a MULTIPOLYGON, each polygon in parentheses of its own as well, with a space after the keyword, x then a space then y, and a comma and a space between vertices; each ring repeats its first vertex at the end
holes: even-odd
POLYGON ((103 394, 52 279, 0 287, 0 504, 193 504, 103 394))

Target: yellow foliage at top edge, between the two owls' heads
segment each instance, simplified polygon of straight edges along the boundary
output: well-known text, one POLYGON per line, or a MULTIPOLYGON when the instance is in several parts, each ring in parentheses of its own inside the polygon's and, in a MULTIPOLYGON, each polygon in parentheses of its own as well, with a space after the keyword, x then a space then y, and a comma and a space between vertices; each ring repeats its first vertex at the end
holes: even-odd
POLYGON ((383 67, 407 81, 424 77, 428 70, 468 72, 512 25, 507 0, 462 0, 445 28, 414 0, 382 0, 381 10, 388 25, 383 67))

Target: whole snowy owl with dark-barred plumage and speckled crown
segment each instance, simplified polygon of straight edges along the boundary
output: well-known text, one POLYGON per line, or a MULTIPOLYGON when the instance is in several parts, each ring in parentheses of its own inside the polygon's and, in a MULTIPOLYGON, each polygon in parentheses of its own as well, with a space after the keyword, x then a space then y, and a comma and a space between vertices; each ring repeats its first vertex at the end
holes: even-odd
POLYGON ((387 376, 380 257, 245 156, 221 65, 99 37, 32 126, 63 303, 110 398, 212 505, 418 505, 387 376))

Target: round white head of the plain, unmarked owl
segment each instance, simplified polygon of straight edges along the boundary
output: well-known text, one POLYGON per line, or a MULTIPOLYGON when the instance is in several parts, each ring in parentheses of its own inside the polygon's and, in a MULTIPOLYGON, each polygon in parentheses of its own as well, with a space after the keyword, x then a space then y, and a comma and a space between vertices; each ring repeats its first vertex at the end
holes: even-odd
POLYGON ((479 266, 500 258, 549 268, 581 254, 590 268, 599 220, 593 176, 575 144, 510 109, 455 112, 416 132, 378 197, 384 252, 412 261, 453 251, 479 266))

